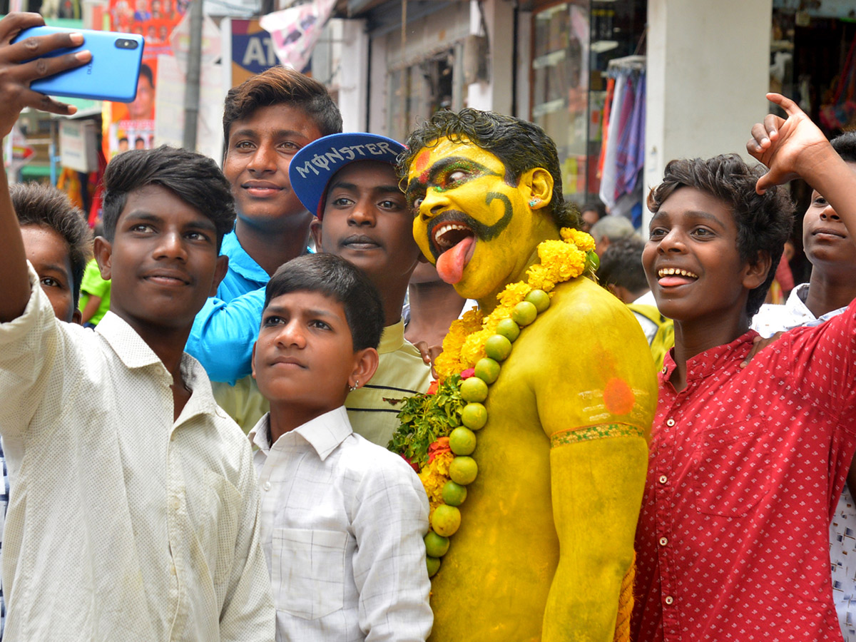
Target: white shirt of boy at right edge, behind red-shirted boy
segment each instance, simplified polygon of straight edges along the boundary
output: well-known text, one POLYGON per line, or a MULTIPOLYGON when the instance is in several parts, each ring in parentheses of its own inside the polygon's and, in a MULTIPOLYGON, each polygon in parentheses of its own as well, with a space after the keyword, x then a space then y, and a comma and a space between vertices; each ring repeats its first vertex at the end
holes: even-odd
MULTIPOLYGON (((768 338, 800 326, 823 324, 847 307, 815 317, 805 306, 808 283, 791 290, 782 306, 764 304, 752 318, 752 330, 768 338)), ((832 597, 845 642, 856 642, 856 502, 847 484, 838 497, 835 514, 829 523, 829 561, 832 565, 832 597)))

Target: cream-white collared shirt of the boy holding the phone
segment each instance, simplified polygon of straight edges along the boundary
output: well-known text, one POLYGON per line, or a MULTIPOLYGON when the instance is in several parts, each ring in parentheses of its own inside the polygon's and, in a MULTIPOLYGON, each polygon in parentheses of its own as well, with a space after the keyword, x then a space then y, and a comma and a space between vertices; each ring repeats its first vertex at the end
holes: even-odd
POLYGON ((202 366, 183 356, 174 420, 146 342, 112 313, 94 332, 57 321, 29 272, 0 324, 7 639, 273 639, 251 450, 202 366))

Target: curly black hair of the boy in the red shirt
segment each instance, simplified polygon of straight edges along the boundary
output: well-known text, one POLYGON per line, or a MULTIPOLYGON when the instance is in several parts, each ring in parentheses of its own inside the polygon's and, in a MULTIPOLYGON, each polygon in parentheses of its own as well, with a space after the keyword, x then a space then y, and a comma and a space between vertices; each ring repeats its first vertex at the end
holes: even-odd
POLYGON ((768 187, 764 194, 755 191, 755 184, 765 171, 760 165, 750 167, 736 154, 722 154, 706 160, 681 158, 666 165, 663 182, 648 194, 648 209, 655 214, 663 201, 680 187, 694 187, 710 194, 734 213, 740 260, 752 265, 758 260, 758 253, 770 256, 767 278, 749 292, 746 300, 746 312, 750 317, 764 303, 794 218, 794 203, 788 198, 785 187, 768 187))

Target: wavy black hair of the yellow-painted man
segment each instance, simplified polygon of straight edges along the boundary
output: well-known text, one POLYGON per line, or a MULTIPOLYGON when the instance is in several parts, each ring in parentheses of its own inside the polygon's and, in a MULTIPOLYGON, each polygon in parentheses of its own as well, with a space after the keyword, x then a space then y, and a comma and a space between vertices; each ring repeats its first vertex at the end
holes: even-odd
POLYGON ((516 187, 520 176, 529 169, 541 167, 553 177, 553 197, 549 214, 560 228, 580 228, 580 212, 562 196, 562 169, 556 143, 538 125, 504 116, 495 111, 437 111, 407 136, 407 149, 398 158, 398 176, 407 177, 413 159, 425 147, 435 147, 440 140, 461 142, 464 139, 499 158, 506 168, 505 181, 516 187))

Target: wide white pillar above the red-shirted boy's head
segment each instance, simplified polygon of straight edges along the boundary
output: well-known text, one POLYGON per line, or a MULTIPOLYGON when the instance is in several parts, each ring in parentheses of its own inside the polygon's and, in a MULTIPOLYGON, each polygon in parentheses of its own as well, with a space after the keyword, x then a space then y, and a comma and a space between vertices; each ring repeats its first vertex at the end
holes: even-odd
POLYGON ((750 160, 749 130, 769 111, 771 16, 772 0, 648 0, 645 189, 673 158, 750 160))

